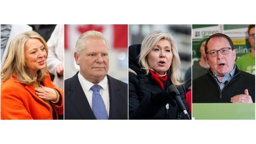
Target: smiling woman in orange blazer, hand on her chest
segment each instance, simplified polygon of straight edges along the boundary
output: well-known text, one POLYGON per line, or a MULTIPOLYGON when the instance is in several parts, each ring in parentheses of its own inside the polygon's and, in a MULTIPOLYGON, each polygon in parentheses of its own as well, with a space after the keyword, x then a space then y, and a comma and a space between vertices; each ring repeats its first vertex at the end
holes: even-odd
POLYGON ((48 48, 35 31, 10 42, 1 72, 1 119, 58 119, 63 114, 63 90, 47 71, 48 48))

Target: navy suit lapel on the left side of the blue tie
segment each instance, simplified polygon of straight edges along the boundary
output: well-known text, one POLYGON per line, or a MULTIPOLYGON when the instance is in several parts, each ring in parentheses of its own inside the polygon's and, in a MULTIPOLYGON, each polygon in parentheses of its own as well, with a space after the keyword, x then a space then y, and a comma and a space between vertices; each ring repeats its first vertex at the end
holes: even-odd
POLYGON ((68 90, 69 94, 67 96, 83 119, 96 119, 83 92, 77 74, 73 77, 72 87, 68 90))

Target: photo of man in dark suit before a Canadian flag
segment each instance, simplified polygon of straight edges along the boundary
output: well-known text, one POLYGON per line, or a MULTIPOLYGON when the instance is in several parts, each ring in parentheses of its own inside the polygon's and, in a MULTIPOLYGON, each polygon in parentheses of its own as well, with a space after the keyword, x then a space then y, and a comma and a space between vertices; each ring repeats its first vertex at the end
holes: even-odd
POLYGON ((128 119, 127 24, 65 25, 65 67, 64 119, 128 119))

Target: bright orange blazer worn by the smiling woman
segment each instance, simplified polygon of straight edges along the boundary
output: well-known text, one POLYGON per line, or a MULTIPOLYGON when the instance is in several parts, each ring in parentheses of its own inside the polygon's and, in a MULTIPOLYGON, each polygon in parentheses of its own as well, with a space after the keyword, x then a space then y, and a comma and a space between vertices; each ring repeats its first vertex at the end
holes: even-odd
MULTIPOLYGON (((1 85, 1 119, 42 119, 52 120, 50 106, 39 98, 33 85, 25 85, 17 82, 14 74, 14 80, 9 78, 1 85)), ((52 108, 55 111, 56 118, 63 114, 63 90, 57 88, 51 81, 49 72, 43 80, 45 87, 55 88, 61 94, 61 102, 56 105, 52 102, 52 108)))

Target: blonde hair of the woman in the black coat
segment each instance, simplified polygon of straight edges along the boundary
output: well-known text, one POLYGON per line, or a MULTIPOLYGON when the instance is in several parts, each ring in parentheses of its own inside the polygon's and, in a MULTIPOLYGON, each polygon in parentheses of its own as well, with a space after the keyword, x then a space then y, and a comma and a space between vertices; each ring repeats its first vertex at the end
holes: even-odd
POLYGON ((142 67, 146 71, 146 75, 149 73, 149 69, 151 68, 147 62, 147 54, 156 46, 159 40, 168 40, 171 44, 171 51, 173 53, 173 58, 171 61, 171 82, 174 85, 182 85, 180 83, 180 57, 178 54, 178 49, 174 42, 173 37, 169 33, 163 33, 161 31, 156 31, 147 35, 141 44, 141 50, 139 55, 139 62, 142 67))

